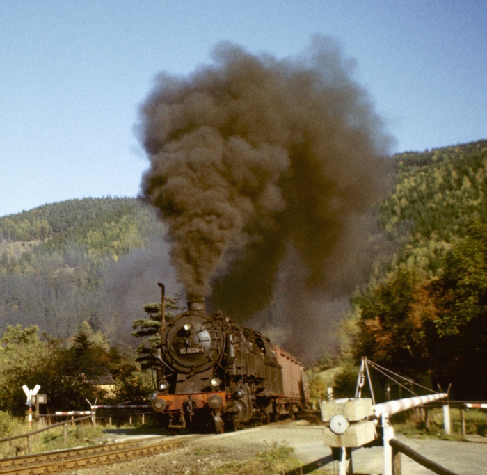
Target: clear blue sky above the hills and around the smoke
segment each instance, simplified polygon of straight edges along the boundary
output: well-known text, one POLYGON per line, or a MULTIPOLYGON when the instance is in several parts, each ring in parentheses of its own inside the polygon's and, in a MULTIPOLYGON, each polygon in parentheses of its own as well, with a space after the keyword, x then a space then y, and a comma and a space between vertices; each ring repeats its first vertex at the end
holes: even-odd
POLYGON ((135 196, 155 75, 193 72, 222 40, 285 58, 333 36, 392 152, 487 138, 486 20, 485 0, 0 0, 0 216, 135 196))

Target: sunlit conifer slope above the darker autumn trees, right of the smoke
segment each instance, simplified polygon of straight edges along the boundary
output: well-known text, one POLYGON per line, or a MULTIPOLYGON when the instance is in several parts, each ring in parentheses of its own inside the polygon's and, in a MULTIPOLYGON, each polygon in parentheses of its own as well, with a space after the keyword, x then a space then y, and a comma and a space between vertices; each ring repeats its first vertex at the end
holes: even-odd
POLYGON ((487 141, 394 160, 397 185, 383 203, 381 224, 390 239, 408 243, 399 259, 415 257, 436 273, 438 255, 465 236, 470 223, 486 219, 487 141))

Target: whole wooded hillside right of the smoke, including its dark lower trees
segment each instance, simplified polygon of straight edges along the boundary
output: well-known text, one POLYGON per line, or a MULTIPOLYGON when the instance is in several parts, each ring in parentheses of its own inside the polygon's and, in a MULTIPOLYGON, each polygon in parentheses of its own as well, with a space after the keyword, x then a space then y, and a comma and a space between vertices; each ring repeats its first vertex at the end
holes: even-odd
POLYGON ((487 396, 487 141, 394 156, 383 232, 397 249, 353 298, 354 352, 487 396))

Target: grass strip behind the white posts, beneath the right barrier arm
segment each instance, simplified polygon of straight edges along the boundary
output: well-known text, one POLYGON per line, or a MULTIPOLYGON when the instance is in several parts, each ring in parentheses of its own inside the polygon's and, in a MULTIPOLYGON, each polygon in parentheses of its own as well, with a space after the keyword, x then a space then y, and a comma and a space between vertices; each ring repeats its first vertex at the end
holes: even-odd
MULTIPOLYGON (((487 436, 487 413, 482 410, 463 410, 466 435, 487 436)), ((410 436, 437 437, 447 440, 463 440, 461 433, 460 409, 450 408, 450 427, 452 434, 446 435, 442 408, 429 409, 429 428, 424 424, 424 412, 408 410, 392 416, 392 425, 397 433, 410 436)))

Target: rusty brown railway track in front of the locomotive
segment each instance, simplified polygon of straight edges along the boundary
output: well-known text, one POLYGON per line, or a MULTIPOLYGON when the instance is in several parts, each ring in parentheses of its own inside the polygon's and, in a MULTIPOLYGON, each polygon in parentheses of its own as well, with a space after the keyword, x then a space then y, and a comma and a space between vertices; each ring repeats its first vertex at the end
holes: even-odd
POLYGON ((97 446, 36 453, 30 456, 0 459, 0 475, 42 475, 122 462, 132 458, 157 455, 183 446, 200 435, 164 438, 147 444, 145 441, 117 442, 97 446))

